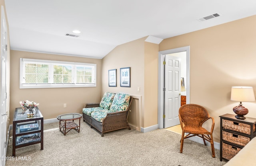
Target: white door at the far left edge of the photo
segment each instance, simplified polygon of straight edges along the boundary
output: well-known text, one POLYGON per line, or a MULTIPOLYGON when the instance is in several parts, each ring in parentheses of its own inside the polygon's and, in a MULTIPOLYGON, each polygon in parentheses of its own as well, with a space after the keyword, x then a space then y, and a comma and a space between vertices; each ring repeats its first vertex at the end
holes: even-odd
MULTIPOLYGON (((6 48, 7 48, 7 31, 6 31, 6 21, 4 16, 4 8, 2 6, 1 12, 1 72, 0 72, 0 110, 1 110, 1 119, 0 119, 0 146, 1 146, 1 157, 6 156, 6 48)), ((5 160, 0 160, 1 166, 5 165, 5 160)))

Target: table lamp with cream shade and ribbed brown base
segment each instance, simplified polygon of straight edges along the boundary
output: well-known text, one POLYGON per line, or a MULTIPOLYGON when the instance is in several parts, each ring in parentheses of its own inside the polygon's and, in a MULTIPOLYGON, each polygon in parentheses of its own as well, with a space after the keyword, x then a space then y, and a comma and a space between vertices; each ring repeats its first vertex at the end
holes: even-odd
POLYGON ((237 119, 246 119, 246 115, 249 111, 246 107, 242 105, 242 102, 254 102, 254 92, 251 86, 233 86, 231 88, 231 98, 232 101, 240 102, 238 106, 233 108, 234 113, 236 113, 237 119))

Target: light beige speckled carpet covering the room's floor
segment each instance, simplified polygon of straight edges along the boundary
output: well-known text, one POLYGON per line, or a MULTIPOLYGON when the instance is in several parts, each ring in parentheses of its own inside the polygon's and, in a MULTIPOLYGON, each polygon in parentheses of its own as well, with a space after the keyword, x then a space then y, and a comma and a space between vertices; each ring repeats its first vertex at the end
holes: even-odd
MULTIPOLYGON (((80 133, 72 130, 64 136, 58 123, 44 125, 44 150, 40 144, 16 149, 17 158, 6 166, 222 166, 220 151, 212 158, 209 146, 186 139, 180 151, 180 135, 166 129, 148 133, 121 129, 101 137, 81 120, 80 133)), ((12 132, 12 131, 11 131, 12 132)), ((12 143, 12 139, 10 139, 12 143)), ((12 156, 12 145, 7 156, 12 156)))

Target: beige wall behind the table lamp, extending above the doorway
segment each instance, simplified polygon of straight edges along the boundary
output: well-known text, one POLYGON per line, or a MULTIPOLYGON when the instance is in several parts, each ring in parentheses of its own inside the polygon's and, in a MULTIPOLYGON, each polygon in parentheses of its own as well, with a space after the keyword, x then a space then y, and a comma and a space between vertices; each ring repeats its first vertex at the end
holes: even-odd
MULTIPOLYGON (((256 91, 256 16, 163 40, 159 51, 190 45, 190 103, 208 109, 215 119, 214 141, 220 140, 220 115, 234 114, 231 86, 256 91)), ((156 64, 155 64, 156 65, 156 64)), ((155 75, 157 77, 157 75, 155 75)), ((256 102, 246 103, 256 118, 256 102)))

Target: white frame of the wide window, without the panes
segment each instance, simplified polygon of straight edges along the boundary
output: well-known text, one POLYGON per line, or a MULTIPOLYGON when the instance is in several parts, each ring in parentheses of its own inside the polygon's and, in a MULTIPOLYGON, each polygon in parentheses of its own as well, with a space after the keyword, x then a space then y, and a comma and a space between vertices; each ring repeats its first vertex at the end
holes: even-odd
MULTIPOLYGON (((96 64, 90 64, 90 63, 80 63, 80 62, 65 62, 65 61, 50 61, 50 60, 41 60, 41 59, 25 59, 25 58, 20 58, 20 89, 28 89, 28 88, 78 88, 78 87, 96 87, 96 64), (48 64, 49 66, 52 64, 62 64, 62 65, 71 65, 73 69, 76 68, 76 66, 93 66, 94 71, 92 73, 92 81, 93 83, 76 83, 74 81, 73 83, 23 83, 23 76, 25 74, 25 68, 23 66, 23 61, 24 62, 35 62, 35 63, 44 63, 48 64)), ((49 72, 49 74, 53 74, 49 72)), ((72 72, 72 80, 76 80, 76 72, 73 70, 72 72)))

